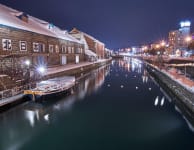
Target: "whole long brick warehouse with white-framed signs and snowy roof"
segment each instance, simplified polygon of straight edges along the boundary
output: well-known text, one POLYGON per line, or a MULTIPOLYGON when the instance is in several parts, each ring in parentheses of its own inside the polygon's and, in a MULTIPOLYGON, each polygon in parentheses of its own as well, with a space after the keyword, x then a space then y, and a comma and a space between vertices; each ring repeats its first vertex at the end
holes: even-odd
POLYGON ((0 73, 84 61, 84 44, 51 23, 0 4, 0 73))

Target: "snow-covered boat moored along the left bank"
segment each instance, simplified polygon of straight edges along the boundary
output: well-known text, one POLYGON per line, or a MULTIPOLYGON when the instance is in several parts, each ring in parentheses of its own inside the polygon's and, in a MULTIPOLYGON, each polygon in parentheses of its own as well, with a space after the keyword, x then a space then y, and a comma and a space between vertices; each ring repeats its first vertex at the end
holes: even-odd
POLYGON ((41 101, 59 95, 71 93, 75 85, 75 77, 65 76, 41 81, 36 88, 24 90, 24 96, 33 101, 41 101))

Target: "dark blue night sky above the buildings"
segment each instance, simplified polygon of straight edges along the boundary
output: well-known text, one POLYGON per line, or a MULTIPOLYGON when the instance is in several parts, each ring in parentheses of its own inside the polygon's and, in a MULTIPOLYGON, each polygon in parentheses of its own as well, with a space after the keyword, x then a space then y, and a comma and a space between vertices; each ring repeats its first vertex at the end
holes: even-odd
POLYGON ((166 39, 181 20, 194 24, 194 0, 0 0, 63 29, 84 31, 117 49, 166 39))

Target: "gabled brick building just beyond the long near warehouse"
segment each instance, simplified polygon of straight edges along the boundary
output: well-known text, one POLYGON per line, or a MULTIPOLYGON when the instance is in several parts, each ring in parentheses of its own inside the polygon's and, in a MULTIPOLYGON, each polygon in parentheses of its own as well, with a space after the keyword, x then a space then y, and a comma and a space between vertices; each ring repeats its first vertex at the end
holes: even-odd
MULTIPOLYGON (((74 36, 76 39, 83 41, 85 44, 86 55, 89 55, 88 52, 92 51, 98 57, 98 59, 105 58, 105 44, 97 40, 96 38, 79 31, 78 29, 74 28, 70 31, 70 34, 74 36)), ((91 53, 92 54, 92 53, 91 53)))

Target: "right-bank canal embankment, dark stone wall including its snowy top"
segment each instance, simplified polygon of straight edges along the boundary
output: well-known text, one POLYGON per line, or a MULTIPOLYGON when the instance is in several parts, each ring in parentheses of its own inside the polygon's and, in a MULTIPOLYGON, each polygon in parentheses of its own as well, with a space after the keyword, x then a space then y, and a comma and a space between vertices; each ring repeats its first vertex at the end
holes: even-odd
POLYGON ((167 70, 159 69, 150 63, 146 63, 146 68, 158 84, 170 94, 173 100, 179 103, 187 114, 194 119, 194 85, 184 84, 184 82, 181 82, 183 77, 173 76, 167 70))

